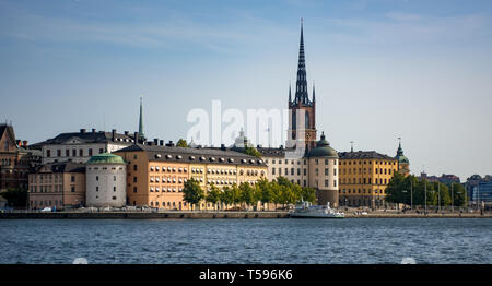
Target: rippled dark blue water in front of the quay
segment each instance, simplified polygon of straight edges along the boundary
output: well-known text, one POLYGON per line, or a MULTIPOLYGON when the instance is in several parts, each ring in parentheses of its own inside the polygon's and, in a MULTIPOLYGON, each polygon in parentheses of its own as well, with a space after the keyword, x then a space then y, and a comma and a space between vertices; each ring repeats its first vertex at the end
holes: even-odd
POLYGON ((1 219, 0 263, 492 263, 492 219, 1 219))

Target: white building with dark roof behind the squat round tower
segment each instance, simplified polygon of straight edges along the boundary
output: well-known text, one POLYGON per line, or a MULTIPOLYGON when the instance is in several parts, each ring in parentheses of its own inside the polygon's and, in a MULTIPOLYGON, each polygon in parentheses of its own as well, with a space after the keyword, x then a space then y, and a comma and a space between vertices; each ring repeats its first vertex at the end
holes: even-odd
POLYGON ((112 132, 81 129, 79 132, 60 133, 39 143, 43 151, 43 164, 85 163, 94 155, 113 153, 132 145, 137 134, 131 135, 128 131, 124 134, 117 133, 116 129, 112 132))

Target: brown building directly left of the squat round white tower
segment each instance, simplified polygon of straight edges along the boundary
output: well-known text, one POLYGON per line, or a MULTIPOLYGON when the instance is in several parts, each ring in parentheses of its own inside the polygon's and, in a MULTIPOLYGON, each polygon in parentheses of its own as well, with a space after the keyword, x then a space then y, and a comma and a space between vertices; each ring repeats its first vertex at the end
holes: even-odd
POLYGON ((28 207, 67 208, 85 203, 85 166, 58 162, 40 166, 28 175, 28 207))

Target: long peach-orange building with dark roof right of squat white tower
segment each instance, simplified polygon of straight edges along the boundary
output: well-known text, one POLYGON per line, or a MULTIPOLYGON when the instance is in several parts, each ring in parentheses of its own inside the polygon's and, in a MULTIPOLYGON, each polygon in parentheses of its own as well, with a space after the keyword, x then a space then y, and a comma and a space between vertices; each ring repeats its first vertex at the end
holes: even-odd
MULTIPOLYGON (((164 210, 190 210, 183 200, 185 182, 195 178, 204 191, 249 182, 266 176, 256 157, 220 148, 137 144, 115 152, 127 163, 127 204, 164 210)), ((200 208, 213 208, 202 202, 200 208)))

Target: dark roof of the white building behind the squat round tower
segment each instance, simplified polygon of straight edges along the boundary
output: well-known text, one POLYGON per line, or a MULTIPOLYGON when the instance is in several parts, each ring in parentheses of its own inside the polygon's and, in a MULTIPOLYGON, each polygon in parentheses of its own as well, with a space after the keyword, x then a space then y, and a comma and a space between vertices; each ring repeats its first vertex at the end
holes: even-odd
POLYGON ((52 139, 48 139, 44 142, 38 143, 39 145, 47 145, 47 144, 63 144, 70 139, 78 139, 82 141, 82 143, 119 143, 119 144, 132 144, 133 142, 133 135, 125 135, 121 133, 115 132, 115 139, 113 139, 113 132, 105 132, 105 131, 85 131, 81 130, 80 132, 67 132, 67 133, 60 133, 57 136, 52 139))

